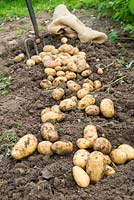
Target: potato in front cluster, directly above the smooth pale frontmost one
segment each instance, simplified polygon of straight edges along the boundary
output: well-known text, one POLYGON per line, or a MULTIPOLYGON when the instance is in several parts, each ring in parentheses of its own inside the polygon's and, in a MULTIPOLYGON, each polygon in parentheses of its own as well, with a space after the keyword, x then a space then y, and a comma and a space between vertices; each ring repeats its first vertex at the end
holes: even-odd
POLYGON ((90 153, 87 150, 79 149, 73 156, 73 164, 84 169, 86 167, 89 154, 90 153))

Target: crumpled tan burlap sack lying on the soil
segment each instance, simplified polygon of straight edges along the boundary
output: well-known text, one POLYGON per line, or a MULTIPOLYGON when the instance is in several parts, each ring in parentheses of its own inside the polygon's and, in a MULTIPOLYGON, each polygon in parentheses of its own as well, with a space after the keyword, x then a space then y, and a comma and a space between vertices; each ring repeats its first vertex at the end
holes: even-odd
POLYGON ((48 31, 53 34, 64 33, 68 37, 78 37, 82 43, 93 41, 103 43, 107 40, 105 33, 86 27, 75 15, 70 13, 65 5, 55 8, 52 22, 48 25, 48 31))

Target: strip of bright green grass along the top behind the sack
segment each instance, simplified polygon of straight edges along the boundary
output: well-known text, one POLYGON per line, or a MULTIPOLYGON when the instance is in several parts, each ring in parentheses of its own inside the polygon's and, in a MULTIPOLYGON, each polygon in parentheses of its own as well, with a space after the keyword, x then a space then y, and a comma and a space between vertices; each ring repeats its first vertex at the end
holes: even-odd
MULTIPOLYGON (((32 4, 36 14, 38 11, 51 11, 58 4, 64 3, 69 9, 82 7, 88 0, 32 0, 32 4)), ((0 21, 11 17, 28 16, 25 0, 1 0, 0 1, 0 21)))

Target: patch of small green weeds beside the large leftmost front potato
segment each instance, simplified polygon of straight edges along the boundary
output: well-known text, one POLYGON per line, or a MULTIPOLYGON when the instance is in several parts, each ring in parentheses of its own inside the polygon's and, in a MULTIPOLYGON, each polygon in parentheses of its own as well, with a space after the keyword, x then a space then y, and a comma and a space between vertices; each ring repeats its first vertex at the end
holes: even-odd
POLYGON ((0 136, 0 153, 4 155, 11 155, 11 148, 15 145, 17 136, 14 130, 9 129, 1 133, 0 136))

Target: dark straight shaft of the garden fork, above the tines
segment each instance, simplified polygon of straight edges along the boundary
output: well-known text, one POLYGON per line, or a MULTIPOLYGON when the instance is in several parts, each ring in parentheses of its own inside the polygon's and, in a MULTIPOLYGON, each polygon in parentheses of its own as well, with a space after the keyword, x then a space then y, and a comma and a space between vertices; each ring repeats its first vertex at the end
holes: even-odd
POLYGON ((27 8, 28 8, 29 15, 30 15, 30 18, 31 18, 31 22, 33 24, 35 36, 37 38, 39 38, 38 25, 37 25, 37 21, 36 21, 36 17, 35 17, 35 13, 34 13, 34 9, 33 9, 31 0, 26 0, 26 4, 27 4, 27 8))

